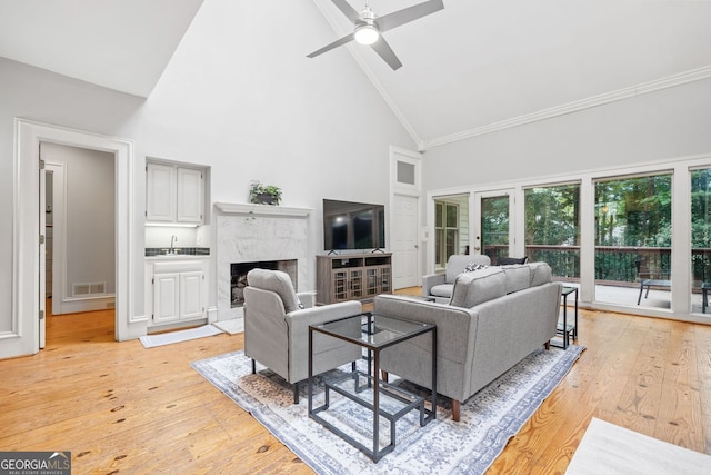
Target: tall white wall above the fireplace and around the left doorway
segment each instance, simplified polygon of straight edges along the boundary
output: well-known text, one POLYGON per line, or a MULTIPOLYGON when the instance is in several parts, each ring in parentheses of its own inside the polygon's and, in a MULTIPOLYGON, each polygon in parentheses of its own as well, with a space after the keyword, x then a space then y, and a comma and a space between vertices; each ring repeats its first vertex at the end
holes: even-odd
MULTIPOLYGON (((321 199, 387 202, 390 146, 415 147, 346 50, 306 58, 332 34, 311 2, 206 2, 147 100, 0 58, 0 219, 28 219, 12 208, 21 117, 134 140, 138 249, 150 156, 210 166, 213 201, 246 202, 252 179, 280 186, 282 205, 317 209, 320 253, 321 199)), ((0 333, 10 328, 11 263, 4 226, 0 333)), ((133 267, 130 311, 142 315, 142 256, 133 267)))

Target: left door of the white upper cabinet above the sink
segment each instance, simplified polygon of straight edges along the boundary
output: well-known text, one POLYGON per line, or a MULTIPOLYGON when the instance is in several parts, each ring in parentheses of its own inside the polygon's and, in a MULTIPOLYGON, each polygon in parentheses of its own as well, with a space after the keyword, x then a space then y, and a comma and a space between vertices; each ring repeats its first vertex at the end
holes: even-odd
POLYGON ((162 164, 146 165, 146 220, 176 220, 176 167, 162 164))

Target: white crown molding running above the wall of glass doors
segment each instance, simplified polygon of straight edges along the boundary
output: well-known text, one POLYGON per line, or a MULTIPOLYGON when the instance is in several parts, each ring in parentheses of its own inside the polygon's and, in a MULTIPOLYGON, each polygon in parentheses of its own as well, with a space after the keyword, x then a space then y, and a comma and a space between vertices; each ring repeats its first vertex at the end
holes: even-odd
POLYGON ((598 106, 603 106, 605 103, 615 102, 619 100, 629 99, 637 96, 643 96, 650 92, 673 88, 677 86, 682 86, 689 82, 700 81, 708 78, 711 78, 711 65, 704 66, 698 69, 691 69, 689 71, 680 72, 677 75, 668 76, 662 79, 657 79, 649 82, 642 82, 629 88, 618 89, 617 91, 605 92, 599 96, 592 96, 585 99, 568 102, 561 106, 551 107, 549 109, 539 110, 537 112, 527 113, 527 115, 514 117, 511 119, 501 120, 498 122, 489 123, 487 126, 477 127, 474 129, 462 130, 461 132, 438 137, 431 140, 425 140, 423 142, 423 149, 440 147, 443 145, 467 140, 473 137, 483 136, 483 135, 500 131, 500 130, 511 129, 513 127, 538 122, 541 120, 551 119, 553 117, 564 116, 567 113, 579 112, 581 110, 590 109, 598 106))

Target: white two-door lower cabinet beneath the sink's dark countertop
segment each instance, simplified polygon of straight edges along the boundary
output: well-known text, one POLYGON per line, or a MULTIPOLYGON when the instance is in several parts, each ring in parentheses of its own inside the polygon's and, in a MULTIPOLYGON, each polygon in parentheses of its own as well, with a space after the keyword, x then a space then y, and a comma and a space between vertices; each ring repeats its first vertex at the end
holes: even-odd
POLYGON ((206 318, 208 259, 147 259, 149 326, 206 318))

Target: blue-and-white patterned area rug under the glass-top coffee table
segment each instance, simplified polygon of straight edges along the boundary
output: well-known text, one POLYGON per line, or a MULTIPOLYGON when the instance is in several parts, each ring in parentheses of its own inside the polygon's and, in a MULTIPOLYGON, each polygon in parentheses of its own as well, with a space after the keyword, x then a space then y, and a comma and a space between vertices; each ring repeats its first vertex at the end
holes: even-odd
MULTIPOLYGON (((281 377, 258 365, 251 374, 251 359, 233 352, 191 363, 210 383, 252 414, 269 432, 319 474, 482 474, 499 456, 507 442, 531 417, 562 380, 584 347, 533 352, 508 373, 461 405, 460 422, 451 418, 450 399, 438 399, 437 419, 420 427, 415 412, 397 423, 395 449, 377 464, 362 452, 308 417, 307 385, 300 403, 293 404, 293 389, 281 377)), ((364 365, 363 362, 359 363, 364 365)), ((347 365, 342 370, 350 369, 347 365)), ((324 378, 333 377, 331 374, 324 378)), ((428 392, 393 382, 411 392, 428 392)), ((314 407, 323 402, 318 384, 314 407)), ((372 418, 363 408, 331 392, 331 405, 320 413, 352 436, 368 439, 372 418)), ((389 425, 380 428, 381 446, 389 442, 389 425)))

